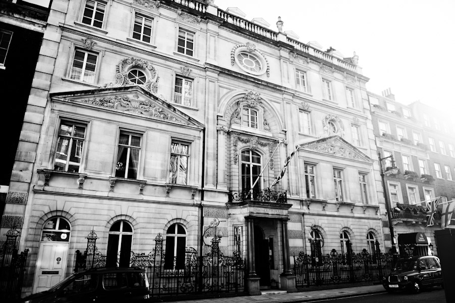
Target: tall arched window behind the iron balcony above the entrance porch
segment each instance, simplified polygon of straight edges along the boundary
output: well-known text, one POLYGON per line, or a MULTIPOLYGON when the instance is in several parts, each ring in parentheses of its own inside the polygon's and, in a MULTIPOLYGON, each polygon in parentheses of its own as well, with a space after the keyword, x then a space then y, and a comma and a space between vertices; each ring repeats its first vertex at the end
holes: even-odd
MULTIPOLYGON (((261 155, 252 150, 242 151, 242 189, 249 191, 261 173, 261 155)), ((254 184, 253 194, 261 190, 262 179, 254 184)))

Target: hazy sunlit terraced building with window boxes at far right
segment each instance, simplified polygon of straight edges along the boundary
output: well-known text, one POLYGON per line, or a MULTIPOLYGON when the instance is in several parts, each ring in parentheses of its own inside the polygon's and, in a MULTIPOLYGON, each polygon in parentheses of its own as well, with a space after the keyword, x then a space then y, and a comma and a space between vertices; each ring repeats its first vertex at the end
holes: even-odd
MULTIPOLYGON (((393 156, 395 166, 400 169, 399 174, 385 176, 395 243, 401 253, 404 247, 416 244, 415 253, 420 255, 431 254, 428 245, 432 244, 433 254, 437 254, 434 230, 440 229, 442 204, 435 214, 434 225, 427 226, 424 201, 441 197, 440 203, 445 203, 455 198, 455 137, 452 135, 455 125, 443 119, 440 111, 421 102, 409 106, 396 102, 390 90, 382 95, 371 92, 368 95, 381 158, 393 156)), ((392 166, 391 159, 382 164, 387 170, 392 166)), ((384 236, 390 240, 387 222, 384 222, 384 236)))

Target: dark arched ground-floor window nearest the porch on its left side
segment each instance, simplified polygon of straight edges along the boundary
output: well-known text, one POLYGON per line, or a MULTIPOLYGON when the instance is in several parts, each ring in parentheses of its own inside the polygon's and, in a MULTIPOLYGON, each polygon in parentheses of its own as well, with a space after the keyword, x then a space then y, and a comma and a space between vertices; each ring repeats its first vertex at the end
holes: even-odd
POLYGON ((185 247, 187 233, 182 224, 174 223, 166 232, 166 254, 164 269, 183 269, 185 267, 185 247))

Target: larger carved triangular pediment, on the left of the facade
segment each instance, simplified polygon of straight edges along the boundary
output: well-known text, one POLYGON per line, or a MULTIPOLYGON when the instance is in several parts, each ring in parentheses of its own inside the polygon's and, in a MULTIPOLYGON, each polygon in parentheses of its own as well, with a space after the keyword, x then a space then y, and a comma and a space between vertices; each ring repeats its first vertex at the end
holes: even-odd
POLYGON ((52 93, 50 97, 80 106, 203 127, 203 124, 139 86, 52 93))

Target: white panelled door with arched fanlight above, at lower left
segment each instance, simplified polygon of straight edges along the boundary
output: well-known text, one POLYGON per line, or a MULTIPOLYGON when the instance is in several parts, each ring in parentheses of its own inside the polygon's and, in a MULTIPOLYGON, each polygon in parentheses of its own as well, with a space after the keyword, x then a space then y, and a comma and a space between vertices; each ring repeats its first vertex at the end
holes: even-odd
POLYGON ((41 229, 33 293, 49 289, 65 278, 71 225, 62 217, 47 220, 41 229))

